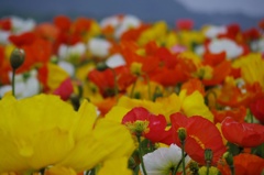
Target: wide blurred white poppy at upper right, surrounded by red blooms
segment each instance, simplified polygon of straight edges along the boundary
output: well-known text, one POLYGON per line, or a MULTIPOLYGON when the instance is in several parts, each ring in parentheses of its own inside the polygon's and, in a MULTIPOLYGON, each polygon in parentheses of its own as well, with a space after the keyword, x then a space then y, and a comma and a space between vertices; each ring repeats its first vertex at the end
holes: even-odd
POLYGON ((243 48, 229 39, 212 40, 209 43, 208 48, 213 54, 226 52, 229 59, 237 58, 243 53, 243 48))

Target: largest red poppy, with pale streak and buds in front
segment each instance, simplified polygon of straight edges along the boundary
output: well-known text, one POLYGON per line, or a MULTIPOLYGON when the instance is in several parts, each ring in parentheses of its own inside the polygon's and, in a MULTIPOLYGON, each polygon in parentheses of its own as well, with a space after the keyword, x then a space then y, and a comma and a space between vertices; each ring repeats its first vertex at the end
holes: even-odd
POLYGON ((217 127, 209 120, 194 116, 187 118, 177 112, 170 116, 172 130, 175 143, 180 146, 177 131, 180 128, 186 130, 185 151, 199 164, 205 165, 205 150, 212 151, 212 164, 217 164, 222 154, 226 152, 222 136, 217 127))

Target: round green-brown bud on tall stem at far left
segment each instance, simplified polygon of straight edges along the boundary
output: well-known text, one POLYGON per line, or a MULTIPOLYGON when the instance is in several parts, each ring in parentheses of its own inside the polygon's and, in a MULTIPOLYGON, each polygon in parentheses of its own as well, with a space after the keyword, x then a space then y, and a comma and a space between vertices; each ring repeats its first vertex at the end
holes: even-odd
POLYGON ((19 68, 24 63, 24 51, 14 48, 10 56, 10 64, 13 69, 19 68))

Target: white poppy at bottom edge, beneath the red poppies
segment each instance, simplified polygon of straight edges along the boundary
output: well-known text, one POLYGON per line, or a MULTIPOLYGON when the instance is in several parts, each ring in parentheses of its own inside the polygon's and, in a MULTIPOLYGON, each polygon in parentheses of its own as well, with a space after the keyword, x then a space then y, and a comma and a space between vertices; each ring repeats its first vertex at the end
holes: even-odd
MULTIPOLYGON (((182 149, 176 144, 170 144, 169 147, 160 147, 152 153, 143 156, 144 165, 147 175, 168 175, 172 168, 175 168, 182 160, 182 149)), ((190 157, 185 157, 186 165, 189 163, 190 157)), ((182 165, 179 169, 182 171, 182 165)), ((142 167, 141 167, 141 172, 142 167)))

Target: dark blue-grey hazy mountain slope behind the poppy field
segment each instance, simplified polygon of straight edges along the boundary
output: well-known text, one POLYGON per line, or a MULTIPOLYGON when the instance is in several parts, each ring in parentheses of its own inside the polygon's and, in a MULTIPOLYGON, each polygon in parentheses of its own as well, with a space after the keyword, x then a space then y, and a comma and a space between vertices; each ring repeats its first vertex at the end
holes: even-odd
POLYGON ((188 18, 195 21, 196 29, 204 24, 239 23, 243 29, 256 26, 261 18, 245 14, 207 14, 187 10, 175 0, 1 0, 0 18, 19 15, 36 21, 51 21, 54 15, 66 14, 73 19, 89 17, 96 20, 129 13, 145 22, 165 20, 170 26, 177 19, 188 18))

